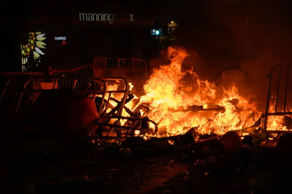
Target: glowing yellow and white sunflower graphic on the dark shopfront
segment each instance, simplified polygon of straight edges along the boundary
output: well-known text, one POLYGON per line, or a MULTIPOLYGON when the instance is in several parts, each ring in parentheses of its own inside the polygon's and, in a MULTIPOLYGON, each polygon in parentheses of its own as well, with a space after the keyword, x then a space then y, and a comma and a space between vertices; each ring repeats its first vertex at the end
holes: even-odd
POLYGON ((41 32, 28 32, 28 41, 25 45, 20 45, 21 48, 21 64, 27 63, 29 53, 34 53, 35 59, 40 59, 41 55, 45 53, 41 49, 46 49, 46 43, 43 42, 47 37, 46 33, 41 32))

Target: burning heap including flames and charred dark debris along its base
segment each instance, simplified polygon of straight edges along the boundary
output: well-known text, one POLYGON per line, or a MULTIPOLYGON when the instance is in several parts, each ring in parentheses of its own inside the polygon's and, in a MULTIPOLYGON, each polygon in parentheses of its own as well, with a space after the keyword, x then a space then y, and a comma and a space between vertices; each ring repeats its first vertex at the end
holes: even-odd
MULTIPOLYGON (((113 123, 108 127, 110 131, 127 137, 120 148, 153 148, 166 142, 188 153, 216 148, 217 154, 240 153, 253 158, 256 147, 279 144, 279 138, 267 130, 289 133, 291 117, 271 116, 266 123, 256 103, 238 94, 235 83, 220 91, 215 83, 200 80, 193 70, 182 70, 183 60, 188 56, 185 50, 169 48, 168 52, 171 63, 153 70, 144 85, 145 95, 128 95, 122 117, 106 121, 113 123)), ((119 84, 109 87, 115 91, 119 84)), ((130 85, 129 90, 132 88, 130 85)), ((122 98, 122 95, 110 98, 112 109, 105 114, 114 115, 122 98)), ((271 106, 270 110, 273 109, 271 106)), ((101 122, 96 133, 102 136, 100 129, 104 129, 101 122)))

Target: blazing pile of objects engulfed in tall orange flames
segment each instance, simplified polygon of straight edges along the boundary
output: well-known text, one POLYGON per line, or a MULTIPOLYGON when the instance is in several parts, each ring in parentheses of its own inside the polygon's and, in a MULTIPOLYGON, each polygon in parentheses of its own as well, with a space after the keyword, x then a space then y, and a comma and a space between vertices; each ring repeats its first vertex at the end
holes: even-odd
MULTIPOLYGON (((185 50, 170 48, 168 52, 171 63, 153 70, 144 85, 145 95, 140 98, 129 95, 126 99, 123 116, 143 118, 140 130, 134 131, 135 135, 168 137, 182 135, 195 128, 195 132, 201 135, 223 135, 233 130, 240 136, 250 134, 257 140, 268 139, 262 113, 257 111, 256 103, 238 94, 235 83, 220 91, 215 83, 200 80, 193 70, 182 71, 183 60, 187 57, 185 50), (153 122, 149 123, 149 120, 153 122)), ((118 84, 110 87, 117 90, 118 84)), ((118 110, 122 97, 111 98, 111 106, 116 107, 107 115, 118 110)), ((269 119, 268 129, 289 130, 291 118, 283 118, 269 119), (285 120, 288 123, 283 125, 281 122, 285 120)), ((123 126, 137 126, 123 119, 120 122, 123 126)))

